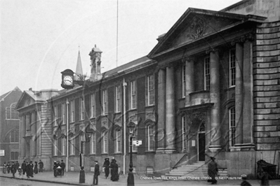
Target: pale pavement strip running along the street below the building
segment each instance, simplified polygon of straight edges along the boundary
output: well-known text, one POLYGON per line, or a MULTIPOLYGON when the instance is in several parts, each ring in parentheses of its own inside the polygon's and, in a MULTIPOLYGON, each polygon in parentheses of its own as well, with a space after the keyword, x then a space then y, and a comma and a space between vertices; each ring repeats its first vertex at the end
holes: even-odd
MULTIPOLYGON (((26 176, 18 176, 18 172, 15 174, 15 178, 11 173, 0 173, 2 178, 11 178, 17 179, 20 183, 20 180, 29 180, 41 182, 41 185, 44 183, 53 183, 57 184, 67 184, 67 185, 92 185, 93 184, 93 173, 86 173, 86 183, 79 183, 79 172, 65 172, 65 176, 54 177, 53 171, 45 171, 44 173, 34 174, 34 178, 27 178, 26 176)), ((134 176, 135 185, 154 185, 154 186, 171 186, 171 185, 210 185, 206 180, 194 180, 191 177, 185 177, 182 180, 169 180, 163 179, 161 177, 154 176, 134 176)), ((240 185, 242 180, 218 180, 218 185, 240 185)), ((260 180, 248 180, 251 185, 260 185, 260 180)), ((1 183, 1 182, 0 182, 1 183)), ((1 184, 0 184, 1 185, 1 184)), ((98 185, 127 185, 127 175, 119 176, 119 181, 112 182, 109 178, 105 178, 104 173, 100 173, 98 179, 98 185)), ((269 185, 280 185, 280 180, 269 180, 269 185)))

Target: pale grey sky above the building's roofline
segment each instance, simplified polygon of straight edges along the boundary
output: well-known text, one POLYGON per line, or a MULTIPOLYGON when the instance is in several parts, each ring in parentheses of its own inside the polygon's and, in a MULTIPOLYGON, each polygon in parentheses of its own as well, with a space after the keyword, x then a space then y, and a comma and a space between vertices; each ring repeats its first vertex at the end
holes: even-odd
POLYGON ((15 87, 61 90, 60 72, 76 70, 79 51, 90 76, 88 54, 100 48, 103 73, 148 55, 187 8, 239 1, 0 0, 0 95, 15 87))

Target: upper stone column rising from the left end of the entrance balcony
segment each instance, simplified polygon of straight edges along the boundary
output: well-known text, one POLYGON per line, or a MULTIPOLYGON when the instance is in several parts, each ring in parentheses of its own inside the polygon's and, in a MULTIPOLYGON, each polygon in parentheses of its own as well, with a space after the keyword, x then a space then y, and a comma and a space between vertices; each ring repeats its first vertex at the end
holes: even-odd
POLYGON ((185 77, 186 77, 186 90, 185 90, 185 106, 191 106, 189 93, 194 92, 194 60, 187 58, 185 61, 185 77))

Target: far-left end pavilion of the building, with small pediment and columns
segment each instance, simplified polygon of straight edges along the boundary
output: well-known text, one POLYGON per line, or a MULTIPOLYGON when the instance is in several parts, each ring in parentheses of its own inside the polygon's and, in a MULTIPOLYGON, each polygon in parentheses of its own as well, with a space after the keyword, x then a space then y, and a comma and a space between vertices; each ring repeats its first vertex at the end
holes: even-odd
POLYGON ((58 90, 26 90, 18 101, 20 113, 20 163, 44 162, 44 170, 51 171, 53 138, 51 107, 47 99, 58 94, 58 90))

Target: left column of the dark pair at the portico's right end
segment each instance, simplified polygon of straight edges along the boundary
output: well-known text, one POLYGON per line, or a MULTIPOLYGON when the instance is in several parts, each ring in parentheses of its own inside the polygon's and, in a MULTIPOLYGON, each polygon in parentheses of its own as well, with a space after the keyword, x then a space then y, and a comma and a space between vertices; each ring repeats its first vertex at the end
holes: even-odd
POLYGON ((235 44, 235 124, 236 144, 243 143, 243 45, 235 44))

